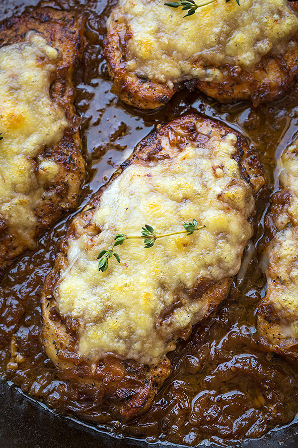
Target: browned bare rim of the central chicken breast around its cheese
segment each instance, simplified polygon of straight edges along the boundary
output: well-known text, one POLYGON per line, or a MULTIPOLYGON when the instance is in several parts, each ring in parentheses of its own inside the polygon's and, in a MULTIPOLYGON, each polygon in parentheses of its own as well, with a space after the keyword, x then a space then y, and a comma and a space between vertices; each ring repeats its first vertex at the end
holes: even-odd
MULTIPOLYGON (((172 146, 178 147, 181 151, 190 142, 208 144, 209 136, 197 130, 195 120, 205 122, 206 128, 214 129, 222 137, 230 132, 229 128, 217 121, 198 115, 187 115, 159 127, 158 130, 146 137, 137 146, 132 157, 117 170, 109 183, 93 196, 83 212, 75 218, 61 243, 54 269, 47 277, 44 285, 42 341, 49 357, 59 369, 60 377, 70 379, 75 388, 89 395, 103 408, 107 407, 109 410, 113 408, 117 417, 122 416, 127 419, 135 414, 145 412, 149 408, 154 395, 170 373, 169 359, 165 357, 153 365, 144 365, 131 359, 121 360, 114 356, 108 356, 100 359, 97 364, 88 363, 76 351, 77 322, 71 317, 63 318, 59 314, 53 292, 60 279, 61 272, 68 266, 69 238, 79 235, 82 229, 90 231, 90 235, 98 233, 98 228, 94 228, 91 218, 100 201, 101 194, 107 186, 132 164, 144 165, 169 157, 168 154, 164 153, 161 145, 164 136, 172 146)), ((237 132, 235 134, 238 137, 238 151, 235 159, 241 167, 243 178, 247 182, 249 182, 249 178, 254 180, 253 187, 256 194, 265 183, 262 165, 256 154, 248 148, 244 138, 237 132), (247 171, 249 171, 250 177, 247 171)), ((231 281, 232 278, 224 278, 222 281, 215 283, 209 279, 201 278, 197 286, 188 291, 191 299, 205 301, 202 313, 197 316, 196 322, 208 316, 227 297, 231 281)), ((172 309, 166 310, 161 319, 166 320, 179 306, 181 304, 177 303, 172 309)), ((186 339, 190 333, 191 326, 174 335, 173 340, 175 341, 178 337, 186 339)))

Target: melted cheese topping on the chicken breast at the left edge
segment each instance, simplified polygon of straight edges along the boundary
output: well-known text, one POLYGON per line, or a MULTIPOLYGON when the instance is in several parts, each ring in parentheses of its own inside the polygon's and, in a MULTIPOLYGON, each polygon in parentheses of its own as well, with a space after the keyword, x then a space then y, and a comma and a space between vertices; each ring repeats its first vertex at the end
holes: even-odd
POLYGON ((49 95, 58 51, 35 33, 0 49, 0 216, 10 231, 34 247, 34 209, 59 166, 38 156, 63 137, 64 111, 49 95))

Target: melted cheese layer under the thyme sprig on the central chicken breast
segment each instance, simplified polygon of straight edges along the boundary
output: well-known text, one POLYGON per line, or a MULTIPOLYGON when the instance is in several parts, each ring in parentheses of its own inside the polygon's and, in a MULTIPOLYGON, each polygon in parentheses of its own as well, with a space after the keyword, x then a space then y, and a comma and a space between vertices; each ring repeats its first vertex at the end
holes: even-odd
POLYGON ((55 291, 60 314, 79 323, 83 356, 113 353, 154 362, 174 348, 175 332, 194 324, 204 307, 188 290, 202 278, 218 282, 237 273, 252 234, 247 219, 254 200, 232 158, 236 140, 234 134, 215 135, 208 146, 175 149, 174 157, 150 166, 134 164, 102 193, 93 215, 101 232, 90 236, 86 229, 69 240, 69 267, 55 291), (157 234, 178 231, 193 218, 206 228, 160 238, 150 249, 142 240, 126 240, 117 246, 121 263, 113 258, 107 271, 98 272, 96 256, 117 233, 140 235, 145 224, 157 234), (164 319, 179 299, 182 305, 164 319))

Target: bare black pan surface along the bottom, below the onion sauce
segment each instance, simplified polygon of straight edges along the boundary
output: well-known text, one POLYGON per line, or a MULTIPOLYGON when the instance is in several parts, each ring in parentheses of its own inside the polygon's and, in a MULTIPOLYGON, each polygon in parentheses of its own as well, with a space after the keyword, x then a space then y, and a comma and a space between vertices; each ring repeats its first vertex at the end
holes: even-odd
MULTIPOLYGON (((206 445, 205 445, 206 446, 206 445)), ((74 419, 61 417, 0 381, 1 448, 179 448, 104 435, 74 419)), ((209 445, 210 448, 218 446, 209 445)), ((227 447, 225 445, 225 447, 227 447)), ((262 439, 233 445, 241 448, 297 448, 298 424, 272 431, 262 439)))

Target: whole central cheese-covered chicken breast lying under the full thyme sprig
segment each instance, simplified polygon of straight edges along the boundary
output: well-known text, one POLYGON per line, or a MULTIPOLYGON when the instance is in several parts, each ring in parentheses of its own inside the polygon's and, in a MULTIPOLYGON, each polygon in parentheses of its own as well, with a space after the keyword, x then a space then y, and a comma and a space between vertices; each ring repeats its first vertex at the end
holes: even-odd
POLYGON ((145 138, 75 217, 45 282, 42 340, 61 378, 125 418, 146 410, 177 338, 226 298, 263 185, 255 153, 219 122, 187 115, 145 138), (127 239, 120 263, 98 270, 116 234, 176 232, 193 219, 206 227, 147 249, 127 239))

